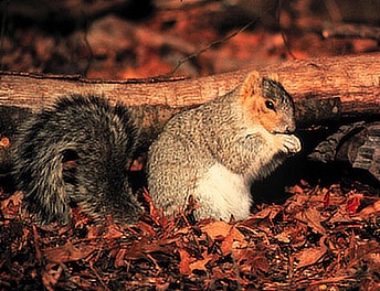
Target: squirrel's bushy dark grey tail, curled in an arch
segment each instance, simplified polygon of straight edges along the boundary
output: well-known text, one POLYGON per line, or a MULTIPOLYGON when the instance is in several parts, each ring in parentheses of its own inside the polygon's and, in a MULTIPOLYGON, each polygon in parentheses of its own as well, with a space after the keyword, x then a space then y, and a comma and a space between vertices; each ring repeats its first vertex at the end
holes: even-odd
POLYGON ((139 130, 127 107, 104 98, 60 98, 18 129, 13 176, 24 205, 42 224, 67 224, 71 203, 101 223, 134 224, 141 208, 128 183, 139 130))

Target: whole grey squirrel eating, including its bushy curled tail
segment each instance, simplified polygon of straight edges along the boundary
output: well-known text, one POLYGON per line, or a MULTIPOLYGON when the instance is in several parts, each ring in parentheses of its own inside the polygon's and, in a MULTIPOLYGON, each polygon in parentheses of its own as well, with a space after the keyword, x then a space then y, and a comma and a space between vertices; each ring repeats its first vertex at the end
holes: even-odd
MULTIPOLYGON (((184 209, 192 196, 197 218, 244 219, 251 182, 300 151, 294 130, 292 97, 254 72, 231 93, 168 121, 148 151, 149 193, 166 214, 184 209)), ((112 214, 136 223, 141 208, 127 170, 139 142, 128 107, 94 96, 61 98, 15 138, 13 173, 27 209, 41 223, 67 224, 75 202, 97 222, 112 214)))

